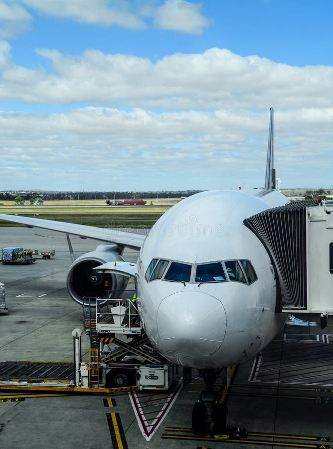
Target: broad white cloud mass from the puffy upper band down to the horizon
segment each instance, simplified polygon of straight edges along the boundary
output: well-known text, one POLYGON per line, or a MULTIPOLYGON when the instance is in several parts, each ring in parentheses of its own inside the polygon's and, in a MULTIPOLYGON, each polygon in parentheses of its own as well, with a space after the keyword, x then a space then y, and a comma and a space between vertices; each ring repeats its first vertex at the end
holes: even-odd
POLYGON ((270 106, 282 187, 306 187, 310 179, 309 187, 331 187, 331 66, 293 67, 218 48, 157 62, 97 50, 38 54, 52 62, 51 73, 15 65, 9 44, 0 42, 1 100, 92 106, 0 113, 1 189, 258 186, 270 106))

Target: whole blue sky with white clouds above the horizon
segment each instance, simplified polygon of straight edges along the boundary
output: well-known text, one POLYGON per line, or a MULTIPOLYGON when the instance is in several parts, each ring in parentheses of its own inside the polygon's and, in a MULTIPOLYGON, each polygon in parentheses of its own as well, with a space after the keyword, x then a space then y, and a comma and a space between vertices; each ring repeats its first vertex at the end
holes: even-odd
POLYGON ((333 189, 333 2, 0 0, 0 190, 333 189))

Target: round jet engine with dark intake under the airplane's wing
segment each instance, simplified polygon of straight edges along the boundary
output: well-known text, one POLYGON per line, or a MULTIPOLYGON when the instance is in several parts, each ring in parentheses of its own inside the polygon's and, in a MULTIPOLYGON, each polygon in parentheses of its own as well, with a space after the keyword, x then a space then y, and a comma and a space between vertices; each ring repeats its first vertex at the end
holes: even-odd
POLYGON ((97 273, 94 270, 96 266, 106 262, 123 261, 116 249, 117 245, 98 245, 95 251, 82 254, 71 264, 67 274, 67 289, 78 304, 83 304, 83 296, 105 298, 107 290, 111 291, 110 298, 119 297, 123 293, 128 283, 126 276, 97 273), (107 288, 106 281, 109 282, 107 288))

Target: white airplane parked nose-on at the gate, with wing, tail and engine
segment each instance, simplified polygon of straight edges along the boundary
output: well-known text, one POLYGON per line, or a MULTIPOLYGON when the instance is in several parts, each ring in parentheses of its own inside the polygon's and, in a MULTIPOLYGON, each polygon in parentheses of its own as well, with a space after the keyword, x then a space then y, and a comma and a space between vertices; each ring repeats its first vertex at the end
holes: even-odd
MULTIPOLYGON (((135 277, 137 306, 154 348, 167 360, 195 368, 206 390, 192 409, 192 429, 204 435, 228 426, 227 408, 213 385, 227 367, 254 357, 284 326, 276 313, 277 282, 271 258, 243 220, 288 199, 276 190, 273 108, 263 190, 206 191, 177 203, 139 235, 86 225, 0 214, 0 220, 101 240, 69 268, 67 288, 79 304, 83 296, 105 297, 105 281, 119 294, 135 277), (125 262, 124 247, 140 250, 137 264, 125 262), (131 265, 131 266, 129 266, 131 265), (114 269, 111 269, 111 267, 114 269)), ((117 296, 118 297, 118 296, 117 296)))

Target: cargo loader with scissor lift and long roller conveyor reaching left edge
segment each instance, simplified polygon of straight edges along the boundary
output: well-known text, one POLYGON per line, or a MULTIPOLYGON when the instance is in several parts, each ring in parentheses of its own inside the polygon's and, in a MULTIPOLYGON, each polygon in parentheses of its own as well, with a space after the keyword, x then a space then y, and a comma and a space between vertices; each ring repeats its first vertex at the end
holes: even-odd
POLYGON ((88 361, 82 362, 83 332, 77 328, 73 363, 0 362, 0 389, 111 393, 167 390, 173 384, 178 367, 152 347, 131 299, 85 299, 91 306, 83 307, 88 361))

